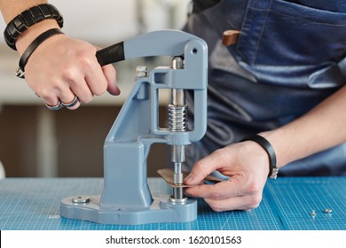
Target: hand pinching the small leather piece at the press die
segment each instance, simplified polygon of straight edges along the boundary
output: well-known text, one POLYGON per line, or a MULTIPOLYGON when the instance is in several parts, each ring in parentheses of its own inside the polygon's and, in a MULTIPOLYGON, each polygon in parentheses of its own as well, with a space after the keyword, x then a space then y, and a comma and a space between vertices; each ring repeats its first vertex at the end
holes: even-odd
POLYGON ((185 194, 204 198, 216 212, 250 210, 260 204, 269 173, 268 155, 260 145, 247 141, 214 151, 194 164, 184 183, 198 184, 214 171, 230 178, 185 188, 185 194))

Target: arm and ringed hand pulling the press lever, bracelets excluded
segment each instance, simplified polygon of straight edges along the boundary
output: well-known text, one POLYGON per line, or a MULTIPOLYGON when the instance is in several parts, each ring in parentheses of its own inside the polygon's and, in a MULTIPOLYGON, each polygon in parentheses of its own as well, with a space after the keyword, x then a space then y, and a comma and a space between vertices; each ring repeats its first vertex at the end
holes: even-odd
MULTIPOLYGON (((20 12, 38 4, 47 4, 47 1, 0 0, 0 11, 8 24, 20 12)), ((59 28, 57 21, 45 19, 21 34, 16 42, 20 56, 38 35, 51 28, 59 28)), ((67 35, 53 35, 41 43, 28 59, 25 79, 48 105, 57 105, 59 100, 68 104, 75 97, 82 103, 89 103, 95 95, 104 94, 106 89, 119 95, 114 67, 99 66, 96 51, 97 48, 90 43, 67 35)), ((79 104, 70 109, 78 107, 79 104)))

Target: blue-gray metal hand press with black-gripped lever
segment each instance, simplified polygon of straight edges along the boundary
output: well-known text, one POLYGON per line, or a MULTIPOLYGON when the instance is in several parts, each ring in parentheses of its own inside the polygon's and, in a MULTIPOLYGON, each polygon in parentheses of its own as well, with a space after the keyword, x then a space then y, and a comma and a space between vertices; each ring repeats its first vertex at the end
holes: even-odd
POLYGON ((162 30, 99 50, 101 66, 128 58, 172 56, 172 66, 148 75, 139 67, 136 83, 114 121, 104 145, 101 196, 62 199, 60 214, 102 224, 184 222, 197 218, 197 201, 184 196, 185 145, 204 136, 207 127, 207 44, 182 31, 162 30), (169 89, 169 127, 159 127, 159 90, 169 89), (194 127, 187 125, 185 89, 193 90, 194 127), (147 184, 146 159, 153 143, 171 146, 176 187, 169 198, 155 199, 147 184), (126 172, 126 173, 125 173, 126 172))

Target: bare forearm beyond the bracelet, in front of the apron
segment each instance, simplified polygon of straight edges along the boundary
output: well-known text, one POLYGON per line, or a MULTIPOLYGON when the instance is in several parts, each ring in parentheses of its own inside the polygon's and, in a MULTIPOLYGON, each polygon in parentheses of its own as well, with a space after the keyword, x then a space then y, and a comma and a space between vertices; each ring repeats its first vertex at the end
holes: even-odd
POLYGON ((273 145, 279 167, 346 141, 346 87, 301 118, 261 134, 273 145))

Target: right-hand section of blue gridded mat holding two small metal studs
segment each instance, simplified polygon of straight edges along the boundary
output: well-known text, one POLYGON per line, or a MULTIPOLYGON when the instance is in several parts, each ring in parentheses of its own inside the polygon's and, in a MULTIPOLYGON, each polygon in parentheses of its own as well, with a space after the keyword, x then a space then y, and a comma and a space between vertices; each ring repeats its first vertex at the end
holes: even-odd
POLYGON ((344 178, 307 178, 304 183, 299 178, 289 178, 272 182, 270 189, 287 229, 346 229, 344 178), (326 208, 333 212, 325 213, 326 208))

